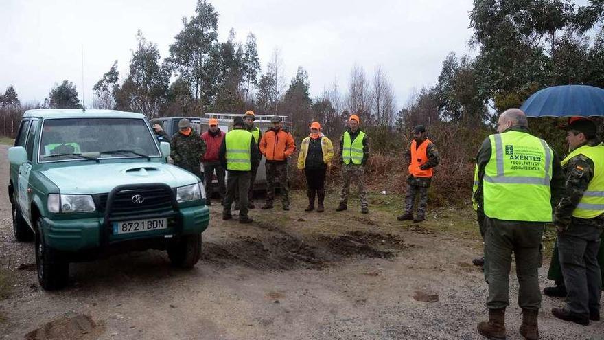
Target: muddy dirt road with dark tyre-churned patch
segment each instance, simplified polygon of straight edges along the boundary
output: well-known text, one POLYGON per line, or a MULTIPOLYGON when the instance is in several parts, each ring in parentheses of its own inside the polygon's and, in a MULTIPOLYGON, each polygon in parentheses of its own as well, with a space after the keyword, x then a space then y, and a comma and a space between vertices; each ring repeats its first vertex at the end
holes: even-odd
MULTIPOLYGON (((480 243, 442 231, 468 223, 471 210, 418 226, 375 202, 367 216, 354 202, 343 213, 305 213, 301 193, 294 196, 290 212, 251 210, 252 225, 223 223, 213 205, 204 255, 191 271, 173 269, 160 251, 130 253, 71 264, 69 287, 49 293, 37 283, 33 245, 12 237, 1 190, 0 264, 10 265, 15 285, 0 301, 0 338, 482 339, 476 322, 487 313, 487 287, 469 264, 480 243)), ((329 197, 331 208, 336 193, 329 197)), ((545 273, 542 286, 550 284, 545 273)), ((508 335, 521 339, 511 281, 508 335)), ((542 339, 604 339, 604 321, 583 327, 551 316, 562 304, 544 297, 542 339)))

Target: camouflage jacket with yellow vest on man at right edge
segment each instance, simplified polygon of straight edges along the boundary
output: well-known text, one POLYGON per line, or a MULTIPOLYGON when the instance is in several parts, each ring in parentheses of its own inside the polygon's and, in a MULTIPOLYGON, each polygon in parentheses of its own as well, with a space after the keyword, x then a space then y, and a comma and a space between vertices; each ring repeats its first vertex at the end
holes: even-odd
POLYGON ((604 144, 589 141, 562 161, 566 190, 555 209, 555 223, 604 225, 604 144))

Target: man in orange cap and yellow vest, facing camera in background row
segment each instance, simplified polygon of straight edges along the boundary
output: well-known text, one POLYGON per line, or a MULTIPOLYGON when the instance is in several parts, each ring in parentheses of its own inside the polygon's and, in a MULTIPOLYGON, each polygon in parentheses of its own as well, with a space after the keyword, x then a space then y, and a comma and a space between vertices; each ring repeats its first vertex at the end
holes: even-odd
POLYGON ((365 165, 369 160, 369 138, 359 128, 360 120, 357 115, 351 115, 348 129, 340 138, 340 163, 342 164, 342 192, 340 205, 336 212, 348 209, 350 182, 356 183, 361 201, 361 212, 369 213, 367 192, 365 191, 365 165))

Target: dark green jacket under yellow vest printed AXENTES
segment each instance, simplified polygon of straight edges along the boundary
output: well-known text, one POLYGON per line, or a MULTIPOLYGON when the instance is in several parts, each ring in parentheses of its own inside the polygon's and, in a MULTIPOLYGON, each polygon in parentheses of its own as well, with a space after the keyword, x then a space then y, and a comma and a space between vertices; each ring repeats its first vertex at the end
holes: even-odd
POLYGON ((478 187, 474 201, 477 209, 490 218, 550 222, 551 209, 564 192, 564 173, 556 153, 544 141, 533 137, 528 128, 512 126, 501 134, 487 137, 478 150, 476 165, 478 187), (508 132, 511 134, 504 135, 508 132), (514 148, 514 139, 522 140, 528 148, 514 148), (493 146, 498 144, 500 148, 493 153, 493 146), (502 161, 496 161, 496 158, 502 161), (548 188, 544 188, 544 183, 548 183, 548 188), (485 190, 489 194, 486 203, 485 190), (512 205, 511 202, 522 200, 518 197, 519 192, 525 194, 526 202, 535 205, 531 211, 527 205, 523 205, 524 209, 512 205), (550 203, 548 206, 543 205, 546 199, 550 203), (507 208, 506 204, 511 206, 507 208))

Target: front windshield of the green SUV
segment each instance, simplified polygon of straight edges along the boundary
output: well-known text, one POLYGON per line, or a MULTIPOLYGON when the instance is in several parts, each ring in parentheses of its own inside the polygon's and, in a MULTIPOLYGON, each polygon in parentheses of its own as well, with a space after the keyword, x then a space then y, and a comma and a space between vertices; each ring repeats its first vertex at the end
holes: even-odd
POLYGON ((44 121, 40 161, 148 156, 160 156, 160 152, 145 120, 61 118, 44 121), (84 157, 74 157, 80 154, 84 157))

